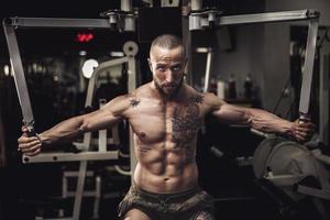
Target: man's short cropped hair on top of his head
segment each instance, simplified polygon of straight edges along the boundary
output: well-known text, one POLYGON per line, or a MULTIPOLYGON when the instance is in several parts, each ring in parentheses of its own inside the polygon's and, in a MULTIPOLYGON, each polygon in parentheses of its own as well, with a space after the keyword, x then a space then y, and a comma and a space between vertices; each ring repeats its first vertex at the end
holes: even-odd
POLYGON ((152 42, 150 50, 152 51, 152 48, 155 47, 155 46, 160 46, 160 47, 168 48, 168 50, 182 46, 183 47, 183 52, 184 52, 183 55, 184 56, 186 55, 183 40, 180 37, 174 35, 174 34, 163 34, 163 35, 157 36, 152 42))

